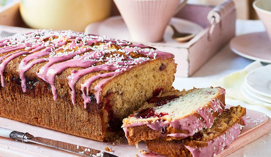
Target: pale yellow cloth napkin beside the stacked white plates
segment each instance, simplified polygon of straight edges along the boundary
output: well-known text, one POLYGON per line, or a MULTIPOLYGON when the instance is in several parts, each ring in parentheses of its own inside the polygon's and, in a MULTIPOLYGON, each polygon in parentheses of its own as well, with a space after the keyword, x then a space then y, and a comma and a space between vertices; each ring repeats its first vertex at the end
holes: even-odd
POLYGON ((226 96, 229 98, 241 100, 252 105, 260 105, 251 100, 248 100, 244 95, 242 95, 241 87, 247 73, 262 66, 263 65, 261 64, 261 62, 255 61, 240 71, 231 73, 229 75, 220 78, 218 81, 214 82, 212 86, 213 87, 220 86, 224 88, 226 90, 226 96))

